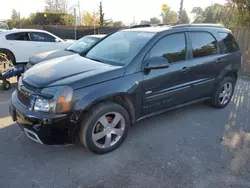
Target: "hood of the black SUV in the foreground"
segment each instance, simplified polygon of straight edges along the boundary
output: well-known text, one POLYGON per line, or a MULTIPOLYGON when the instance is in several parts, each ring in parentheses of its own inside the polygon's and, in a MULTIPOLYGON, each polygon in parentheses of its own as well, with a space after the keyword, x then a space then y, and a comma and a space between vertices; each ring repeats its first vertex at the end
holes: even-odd
POLYGON ((125 68, 96 62, 79 54, 35 65, 24 73, 24 82, 37 88, 70 85, 73 89, 122 77, 125 68))

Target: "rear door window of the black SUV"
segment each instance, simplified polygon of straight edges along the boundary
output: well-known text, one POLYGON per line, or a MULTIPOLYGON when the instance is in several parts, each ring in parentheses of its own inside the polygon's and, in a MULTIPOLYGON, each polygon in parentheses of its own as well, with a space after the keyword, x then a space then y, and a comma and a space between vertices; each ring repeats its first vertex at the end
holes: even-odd
POLYGON ((217 41, 210 33, 191 32, 190 37, 193 47, 193 58, 217 54, 217 41))

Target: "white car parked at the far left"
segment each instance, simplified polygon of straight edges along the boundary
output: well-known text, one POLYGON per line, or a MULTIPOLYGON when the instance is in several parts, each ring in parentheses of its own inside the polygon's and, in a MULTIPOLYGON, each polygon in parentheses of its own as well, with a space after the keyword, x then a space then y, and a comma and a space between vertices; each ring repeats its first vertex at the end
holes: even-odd
POLYGON ((28 63, 35 54, 64 49, 72 43, 43 30, 14 29, 0 32, 0 53, 14 65, 28 63))

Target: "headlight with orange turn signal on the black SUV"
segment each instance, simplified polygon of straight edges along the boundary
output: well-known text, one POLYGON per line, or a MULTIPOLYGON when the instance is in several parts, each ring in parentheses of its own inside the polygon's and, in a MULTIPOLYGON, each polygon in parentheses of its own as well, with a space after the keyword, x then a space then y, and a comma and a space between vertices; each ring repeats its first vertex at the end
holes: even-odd
POLYGON ((42 90, 44 98, 37 98, 34 110, 63 113, 72 107, 73 89, 69 86, 50 87, 42 90))

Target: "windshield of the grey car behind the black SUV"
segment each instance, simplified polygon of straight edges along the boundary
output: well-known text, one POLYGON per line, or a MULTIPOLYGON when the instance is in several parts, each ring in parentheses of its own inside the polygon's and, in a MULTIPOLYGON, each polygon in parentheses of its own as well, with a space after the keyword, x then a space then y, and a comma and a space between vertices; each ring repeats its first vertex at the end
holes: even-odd
POLYGON ((83 53, 99 40, 100 40, 99 38, 94 38, 94 37, 83 37, 78 41, 76 41, 71 46, 69 46, 67 50, 74 51, 76 53, 83 53))

